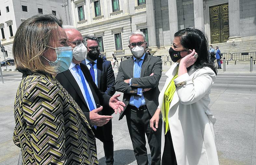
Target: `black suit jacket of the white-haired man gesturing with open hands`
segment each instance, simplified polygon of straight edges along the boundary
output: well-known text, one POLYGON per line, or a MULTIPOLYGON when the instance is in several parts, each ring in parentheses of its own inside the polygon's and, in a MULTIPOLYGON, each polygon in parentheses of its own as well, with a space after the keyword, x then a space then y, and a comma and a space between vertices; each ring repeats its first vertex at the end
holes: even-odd
MULTIPOLYGON (((83 71, 83 74, 90 86, 93 98, 95 100, 97 108, 99 108, 101 105, 103 107, 109 107, 109 99, 111 96, 103 93, 100 91, 96 84, 93 82, 90 71, 88 67, 82 63, 80 63, 81 70, 83 71)), ((88 119, 88 122, 90 123, 90 117, 89 117, 89 108, 86 104, 86 101, 84 99, 84 96, 75 81, 75 78, 73 77, 70 70, 66 70, 64 72, 59 73, 56 76, 56 79, 61 83, 61 85, 68 91, 68 93, 73 97, 75 102, 78 104, 78 106, 81 108, 81 110, 84 112, 86 118, 88 119)), ((99 114, 102 114, 99 112, 99 114)))

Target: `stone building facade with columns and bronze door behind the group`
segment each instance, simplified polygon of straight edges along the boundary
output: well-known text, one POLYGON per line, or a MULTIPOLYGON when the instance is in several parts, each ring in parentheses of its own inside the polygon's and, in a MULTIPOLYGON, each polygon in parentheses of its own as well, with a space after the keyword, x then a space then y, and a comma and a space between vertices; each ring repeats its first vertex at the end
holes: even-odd
POLYGON ((100 38, 106 56, 130 55, 128 36, 146 34, 149 49, 172 44, 176 31, 195 27, 209 44, 256 40, 255 0, 71 0, 73 25, 100 38))

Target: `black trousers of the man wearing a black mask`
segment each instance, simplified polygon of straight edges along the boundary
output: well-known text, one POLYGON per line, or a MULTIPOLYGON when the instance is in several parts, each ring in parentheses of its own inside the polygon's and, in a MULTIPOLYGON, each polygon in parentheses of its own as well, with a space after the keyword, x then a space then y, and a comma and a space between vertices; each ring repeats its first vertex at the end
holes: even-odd
POLYGON ((112 119, 103 126, 98 126, 97 129, 93 129, 96 138, 103 143, 106 165, 114 164, 114 142, 112 135, 112 119))

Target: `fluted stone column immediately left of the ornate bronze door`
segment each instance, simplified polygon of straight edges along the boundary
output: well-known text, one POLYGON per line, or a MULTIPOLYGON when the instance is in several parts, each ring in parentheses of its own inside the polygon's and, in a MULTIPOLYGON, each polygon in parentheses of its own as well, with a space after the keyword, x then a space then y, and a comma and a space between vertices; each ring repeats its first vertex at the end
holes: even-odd
POLYGON ((194 0, 195 29, 204 31, 204 7, 203 0, 194 0))

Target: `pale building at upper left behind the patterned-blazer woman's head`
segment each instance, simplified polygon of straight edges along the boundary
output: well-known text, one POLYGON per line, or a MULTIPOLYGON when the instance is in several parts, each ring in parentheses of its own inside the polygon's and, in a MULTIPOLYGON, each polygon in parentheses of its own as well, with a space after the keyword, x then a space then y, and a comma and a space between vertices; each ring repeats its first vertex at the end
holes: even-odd
MULTIPOLYGON (((17 28, 21 22, 37 14, 54 14, 63 20, 63 25, 70 25, 70 0, 0 0, 0 40, 5 47, 6 58, 13 58, 12 43, 17 28), (65 7, 61 4, 67 3, 65 7), (65 17, 65 9, 67 20, 65 17)), ((71 8, 70 8, 71 11, 71 8)), ((71 19, 70 19, 71 18, 71 19)), ((0 52, 0 61, 4 54, 0 52)))

